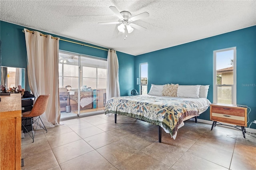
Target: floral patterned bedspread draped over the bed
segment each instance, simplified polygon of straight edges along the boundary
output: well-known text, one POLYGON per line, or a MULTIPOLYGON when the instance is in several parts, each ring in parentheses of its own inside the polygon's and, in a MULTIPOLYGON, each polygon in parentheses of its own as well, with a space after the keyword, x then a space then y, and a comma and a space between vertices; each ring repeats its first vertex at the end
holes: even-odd
POLYGON ((113 97, 108 100, 105 114, 126 115, 159 125, 175 139, 178 126, 187 116, 199 116, 198 105, 150 95, 113 97))

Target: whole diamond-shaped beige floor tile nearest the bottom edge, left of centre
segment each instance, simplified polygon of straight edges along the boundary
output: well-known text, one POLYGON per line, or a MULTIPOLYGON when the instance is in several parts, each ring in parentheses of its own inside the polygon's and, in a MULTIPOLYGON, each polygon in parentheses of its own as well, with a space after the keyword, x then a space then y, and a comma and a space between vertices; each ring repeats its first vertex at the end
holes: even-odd
POLYGON ((114 166, 138 152, 134 147, 121 141, 113 142, 96 151, 114 166))

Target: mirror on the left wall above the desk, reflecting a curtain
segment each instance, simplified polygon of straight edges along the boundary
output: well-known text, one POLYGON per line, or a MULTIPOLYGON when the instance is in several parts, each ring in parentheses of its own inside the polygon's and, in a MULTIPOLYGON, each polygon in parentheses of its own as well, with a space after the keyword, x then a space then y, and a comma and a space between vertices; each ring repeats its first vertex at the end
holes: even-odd
POLYGON ((9 87, 17 87, 18 89, 18 85, 25 89, 25 68, 1 66, 0 84, 6 89, 9 87))

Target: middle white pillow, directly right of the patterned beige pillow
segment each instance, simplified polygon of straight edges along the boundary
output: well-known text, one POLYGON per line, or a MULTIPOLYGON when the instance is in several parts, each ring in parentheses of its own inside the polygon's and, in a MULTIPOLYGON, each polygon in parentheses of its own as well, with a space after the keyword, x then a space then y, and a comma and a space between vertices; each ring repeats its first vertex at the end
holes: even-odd
POLYGON ((177 97, 199 98, 200 85, 179 85, 177 97))

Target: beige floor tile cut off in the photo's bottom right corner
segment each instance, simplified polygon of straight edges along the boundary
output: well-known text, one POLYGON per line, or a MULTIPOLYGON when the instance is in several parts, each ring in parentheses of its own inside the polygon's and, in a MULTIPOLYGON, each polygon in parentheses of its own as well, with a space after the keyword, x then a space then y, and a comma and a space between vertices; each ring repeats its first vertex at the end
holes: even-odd
POLYGON ((241 156, 239 154, 233 154, 231 170, 256 170, 256 158, 250 156, 241 156))

